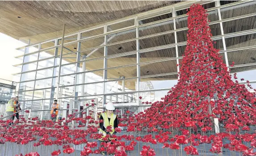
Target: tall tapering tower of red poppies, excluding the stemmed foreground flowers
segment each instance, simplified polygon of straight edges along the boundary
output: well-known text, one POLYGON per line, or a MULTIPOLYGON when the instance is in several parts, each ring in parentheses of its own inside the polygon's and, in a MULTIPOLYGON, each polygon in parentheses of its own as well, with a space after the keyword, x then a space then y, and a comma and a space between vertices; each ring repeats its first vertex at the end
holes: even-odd
POLYGON ((193 5, 188 15, 188 40, 180 80, 164 101, 152 104, 143 116, 158 116, 159 112, 159 116, 167 115, 183 126, 188 121, 208 124, 210 117, 240 127, 255 125, 255 93, 231 80, 226 64, 213 47, 206 10, 201 5, 193 5), (209 105, 214 114, 209 113, 209 105))

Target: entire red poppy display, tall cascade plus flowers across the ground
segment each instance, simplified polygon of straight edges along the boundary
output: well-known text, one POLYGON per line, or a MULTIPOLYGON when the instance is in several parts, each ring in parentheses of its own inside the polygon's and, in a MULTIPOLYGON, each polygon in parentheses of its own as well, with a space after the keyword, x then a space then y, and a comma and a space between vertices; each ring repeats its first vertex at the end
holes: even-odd
MULTIPOLYGON (((50 153, 58 156, 62 152, 73 153, 73 147, 83 145, 82 151, 78 153, 80 156, 100 152, 126 156, 126 152, 134 151, 135 147, 138 147, 141 156, 155 156, 157 151, 151 147, 158 142, 163 144, 162 148, 167 149, 167 155, 169 148, 175 156, 182 155, 183 151, 189 155, 198 155, 199 152, 220 153, 225 148, 243 152, 244 156, 255 156, 253 148, 256 148, 256 133, 250 131, 249 127, 256 125, 255 93, 248 92, 247 88, 252 89, 248 81, 246 88, 245 85, 238 84, 237 80, 232 80, 237 79, 236 74, 233 77, 230 75, 218 50, 213 48, 206 10, 201 5, 194 4, 188 15, 188 42, 178 84, 145 112, 137 115, 130 111, 126 111, 126 114, 115 112, 118 115, 118 126, 127 126, 129 135, 121 135, 121 128, 115 128, 117 135, 102 138, 97 126, 104 121, 94 119, 91 115, 97 112, 92 110, 88 111, 89 116, 76 117, 74 112, 67 119, 63 118, 56 123, 52 120, 40 121, 37 116, 25 120, 21 115, 20 120, 15 121, 12 127, 8 127, 12 120, 0 120, 0 151, 4 151, 6 144, 27 146, 29 149, 33 147, 33 150, 42 149, 43 146, 46 150, 41 150, 41 156, 50 153), (213 118, 218 118, 226 132, 215 134, 212 131, 213 118), (72 121, 81 125, 71 127, 72 121), (116 140, 112 140, 113 138, 116 140), (103 142, 100 147, 96 142, 98 139, 111 139, 111 142, 103 142), (129 141, 129 144, 125 141, 129 141), (137 144, 138 142, 144 146, 137 144), (202 148, 201 145, 205 144, 211 144, 210 151, 202 148), (52 145, 61 150, 54 148, 49 151, 52 145)), ((96 107, 93 102, 92 100, 92 107, 96 107)), ((17 153, 16 146, 9 147, 13 147, 11 149, 17 153)), ((39 153, 32 151, 25 156, 39 156, 39 153)))

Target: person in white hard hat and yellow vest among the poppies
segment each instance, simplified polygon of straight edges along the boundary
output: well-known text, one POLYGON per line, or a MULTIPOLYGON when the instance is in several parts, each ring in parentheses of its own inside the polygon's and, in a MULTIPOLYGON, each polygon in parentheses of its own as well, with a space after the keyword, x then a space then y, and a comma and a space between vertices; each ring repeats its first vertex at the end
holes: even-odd
MULTIPOLYGON (((106 112, 102 112, 100 115, 100 120, 104 120, 104 122, 100 123, 100 134, 103 134, 102 138, 99 139, 99 145, 101 142, 109 142, 110 140, 104 140, 103 138, 109 134, 116 134, 115 128, 118 128, 118 117, 113 113, 115 110, 115 106, 112 102, 106 104, 106 112), (111 132, 108 132, 107 127, 111 126, 111 132)), ((101 152, 102 155, 107 154, 106 152, 101 152)))

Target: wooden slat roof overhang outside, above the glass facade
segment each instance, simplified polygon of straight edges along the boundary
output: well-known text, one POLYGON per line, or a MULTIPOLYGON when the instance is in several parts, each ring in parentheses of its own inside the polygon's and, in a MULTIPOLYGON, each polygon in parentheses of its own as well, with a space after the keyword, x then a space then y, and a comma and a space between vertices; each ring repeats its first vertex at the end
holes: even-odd
POLYGON ((67 28, 86 28, 180 1, 145 0, 84 0, 84 1, 0 1, 2 33, 19 39, 67 28), (21 18, 17 18, 20 16, 21 18), (92 26, 92 25, 90 25, 92 26))

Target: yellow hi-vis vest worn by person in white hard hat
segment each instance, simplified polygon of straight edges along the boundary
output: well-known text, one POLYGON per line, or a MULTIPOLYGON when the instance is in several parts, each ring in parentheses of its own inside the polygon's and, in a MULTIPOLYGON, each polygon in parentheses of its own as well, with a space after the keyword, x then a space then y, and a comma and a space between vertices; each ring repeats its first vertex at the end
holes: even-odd
MULTIPOLYGON (((103 117, 104 119, 104 122, 103 122, 103 126, 107 129, 108 126, 111 125, 111 129, 112 129, 112 132, 109 132, 110 134, 113 134, 115 132, 115 129, 114 129, 114 120, 116 119, 117 115, 115 114, 111 114, 111 117, 110 117, 110 122, 109 122, 109 119, 108 119, 108 116, 107 116, 107 113, 104 112, 104 113, 101 113, 101 116, 103 117)), ((100 131, 99 131, 100 134, 103 134, 102 137, 105 137, 107 135, 107 133, 105 131, 103 131, 101 128, 100 128, 100 131)), ((104 141, 102 139, 99 139, 101 141, 104 141)))

